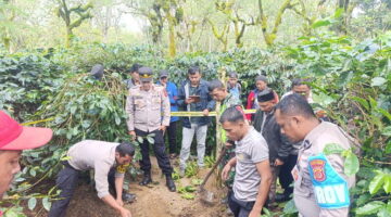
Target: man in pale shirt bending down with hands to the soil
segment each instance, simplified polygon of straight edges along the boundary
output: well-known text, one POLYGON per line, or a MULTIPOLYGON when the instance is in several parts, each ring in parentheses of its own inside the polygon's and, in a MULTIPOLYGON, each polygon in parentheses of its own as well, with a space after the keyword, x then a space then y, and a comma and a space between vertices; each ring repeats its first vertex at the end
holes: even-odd
POLYGON ((85 140, 71 146, 67 152, 68 161, 56 178, 61 190, 60 200, 52 205, 49 217, 65 216, 83 170, 94 169, 94 181, 98 196, 121 214, 121 217, 131 217, 130 210, 123 207, 124 166, 129 165, 135 155, 135 148, 130 143, 114 143, 98 140, 85 140), (116 199, 109 193, 109 182, 114 179, 116 199))

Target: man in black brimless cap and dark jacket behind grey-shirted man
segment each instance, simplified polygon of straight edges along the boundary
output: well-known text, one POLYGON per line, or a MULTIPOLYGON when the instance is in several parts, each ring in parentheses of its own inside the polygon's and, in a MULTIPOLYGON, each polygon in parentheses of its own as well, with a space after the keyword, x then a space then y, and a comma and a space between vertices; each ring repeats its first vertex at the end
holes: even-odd
POLYGON ((274 116, 274 106, 276 98, 272 89, 265 89, 257 94, 260 108, 254 117, 254 128, 265 138, 269 150, 270 170, 273 175, 270 191, 268 195, 268 204, 272 205, 276 199, 276 180, 280 170, 280 166, 287 159, 291 143, 281 135, 274 116))

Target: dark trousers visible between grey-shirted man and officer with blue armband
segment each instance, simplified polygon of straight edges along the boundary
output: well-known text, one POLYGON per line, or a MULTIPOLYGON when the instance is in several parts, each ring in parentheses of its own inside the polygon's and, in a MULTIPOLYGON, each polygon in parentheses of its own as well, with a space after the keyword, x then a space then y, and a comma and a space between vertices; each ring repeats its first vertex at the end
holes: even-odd
POLYGON ((285 162, 285 164, 281 166, 280 173, 279 173, 279 182, 281 183, 281 187, 283 189, 283 194, 290 195, 293 193, 293 187, 290 187, 290 184, 293 182, 292 177, 292 169, 294 165, 298 162, 298 155, 297 154, 290 154, 285 162))

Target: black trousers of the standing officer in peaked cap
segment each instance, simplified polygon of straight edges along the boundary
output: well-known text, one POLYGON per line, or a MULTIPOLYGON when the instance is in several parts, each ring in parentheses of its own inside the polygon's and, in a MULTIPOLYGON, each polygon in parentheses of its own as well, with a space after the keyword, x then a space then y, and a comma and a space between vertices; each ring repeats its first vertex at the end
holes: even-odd
MULTIPOLYGON (((163 174, 171 175, 173 173, 173 167, 169 164, 169 159, 167 154, 165 153, 165 145, 164 145, 164 138, 163 138, 163 131, 162 130, 154 130, 151 132, 141 131, 139 129, 135 129, 136 135, 139 137, 147 137, 150 133, 154 133, 154 143, 153 143, 153 152, 156 156, 159 167, 162 169, 163 174)), ((151 173, 151 159, 149 157, 149 142, 147 139, 143 140, 143 142, 140 144, 141 148, 141 161, 140 166, 141 170, 143 170, 144 174, 151 173)))

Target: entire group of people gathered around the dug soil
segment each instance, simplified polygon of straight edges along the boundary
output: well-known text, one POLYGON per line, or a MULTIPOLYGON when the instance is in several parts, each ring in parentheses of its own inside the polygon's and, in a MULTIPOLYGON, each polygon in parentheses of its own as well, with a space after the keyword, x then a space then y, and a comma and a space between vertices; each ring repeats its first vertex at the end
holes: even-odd
MULTIPOLYGON (((179 158, 179 175, 184 176, 194 135, 197 164, 204 167, 210 112, 219 103, 218 122, 224 130, 217 136, 226 149, 220 170, 227 187, 224 201, 231 215, 258 217, 263 207, 274 208, 277 203, 293 197, 301 216, 348 216, 349 189, 354 186, 355 177, 343 173, 341 155, 325 155, 323 149, 329 143, 349 149, 352 140, 323 111, 314 112, 308 79, 293 79, 291 90, 280 99, 267 86, 267 77, 258 75, 256 88, 250 91, 244 107, 240 100, 243 89, 235 72, 228 73, 226 84, 219 79, 206 81, 200 67, 192 66, 179 88, 169 81, 169 73, 164 69, 159 72, 157 82, 153 81, 153 71, 139 64, 133 65, 129 76, 125 80, 128 133, 133 140, 153 136, 153 152, 168 191, 176 191, 169 159, 179 158), (247 114, 245 108, 256 112, 247 114), (171 115, 177 111, 202 115, 181 118, 171 115), (178 122, 182 126, 181 142, 176 138, 178 122), (283 192, 276 193, 277 182, 283 192)), ((23 127, 0 112, 0 166, 4 168, 0 171, 0 199, 20 170, 21 151, 40 146, 51 136, 50 129, 23 127)), ((144 139, 140 143, 139 163, 143 171, 140 186, 152 182, 149 149, 144 139)), ((68 159, 63 162, 56 178, 60 200, 54 201, 49 216, 65 216, 79 171, 89 169, 94 169, 98 196, 121 216, 131 216, 124 207, 124 200, 135 195, 123 192, 123 184, 134 154, 131 141, 85 140, 71 146, 68 159)))

